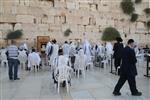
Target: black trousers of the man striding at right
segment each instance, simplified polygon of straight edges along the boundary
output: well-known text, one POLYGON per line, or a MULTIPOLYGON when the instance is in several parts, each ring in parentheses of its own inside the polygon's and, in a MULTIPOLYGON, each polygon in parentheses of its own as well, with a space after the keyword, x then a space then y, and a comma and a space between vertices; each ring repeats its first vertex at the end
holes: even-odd
POLYGON ((114 92, 120 92, 120 89, 122 88, 126 80, 128 81, 131 93, 137 93, 138 90, 136 88, 135 76, 120 76, 119 81, 115 86, 114 92))

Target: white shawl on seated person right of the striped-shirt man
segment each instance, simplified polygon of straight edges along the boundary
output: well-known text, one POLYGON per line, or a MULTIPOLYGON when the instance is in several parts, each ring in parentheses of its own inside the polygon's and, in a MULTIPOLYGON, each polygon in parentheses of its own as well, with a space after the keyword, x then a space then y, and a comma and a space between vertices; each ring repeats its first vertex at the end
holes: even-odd
POLYGON ((38 53, 32 52, 28 56, 28 67, 32 67, 34 65, 40 65, 41 58, 38 53))

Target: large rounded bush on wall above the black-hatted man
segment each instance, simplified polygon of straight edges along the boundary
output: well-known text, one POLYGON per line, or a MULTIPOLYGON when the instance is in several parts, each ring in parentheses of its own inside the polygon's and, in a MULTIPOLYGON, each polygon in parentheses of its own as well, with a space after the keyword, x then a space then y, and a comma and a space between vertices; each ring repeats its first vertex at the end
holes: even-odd
POLYGON ((102 34, 103 41, 113 41, 116 40, 117 37, 120 37, 120 33, 113 27, 107 27, 102 34))

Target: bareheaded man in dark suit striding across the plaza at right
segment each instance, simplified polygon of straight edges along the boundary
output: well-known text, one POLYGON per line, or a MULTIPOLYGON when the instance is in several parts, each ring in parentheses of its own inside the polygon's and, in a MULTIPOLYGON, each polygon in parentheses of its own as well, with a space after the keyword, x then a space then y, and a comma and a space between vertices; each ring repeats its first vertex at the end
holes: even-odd
POLYGON ((122 88, 126 80, 129 83, 130 90, 133 96, 142 95, 142 93, 139 92, 136 88, 135 76, 137 75, 136 69, 137 60, 133 48, 134 48, 134 40, 130 39, 128 40, 128 45, 123 49, 120 78, 113 91, 113 94, 115 96, 121 95, 120 89, 122 88))

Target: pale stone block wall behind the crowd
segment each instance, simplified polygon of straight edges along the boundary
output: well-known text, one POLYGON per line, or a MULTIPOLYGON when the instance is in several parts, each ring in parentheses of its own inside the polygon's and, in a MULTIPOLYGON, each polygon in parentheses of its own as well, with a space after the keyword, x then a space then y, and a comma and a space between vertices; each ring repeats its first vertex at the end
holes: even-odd
MULTIPOLYGON (((101 41, 104 28, 116 27, 124 40, 134 38, 138 43, 149 43, 150 35, 143 24, 130 23, 129 16, 120 9, 121 0, 1 0, 0 1, 0 44, 8 30, 23 29, 22 41, 32 45, 37 36, 50 36, 58 42, 69 39, 101 41), (54 2, 53 2, 54 1, 54 2), (64 37, 70 28, 72 34, 64 37), (136 33, 136 34, 135 34, 136 33)), ((147 20, 143 9, 148 0, 136 5, 139 20, 147 20)))

